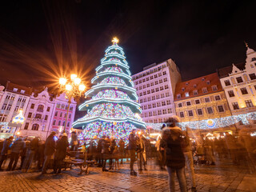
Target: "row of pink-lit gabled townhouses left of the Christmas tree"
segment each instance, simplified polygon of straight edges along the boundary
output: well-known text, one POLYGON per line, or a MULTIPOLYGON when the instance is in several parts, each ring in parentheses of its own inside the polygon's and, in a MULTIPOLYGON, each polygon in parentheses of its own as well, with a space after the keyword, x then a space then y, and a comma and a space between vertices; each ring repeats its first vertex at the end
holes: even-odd
POLYGON ((61 132, 64 129, 66 116, 66 132, 70 133, 74 122, 76 102, 72 99, 67 115, 68 99, 65 94, 54 97, 48 89, 32 92, 31 88, 7 82, 6 89, 0 87, 0 138, 19 133, 23 137, 40 137, 45 140, 50 131, 61 132), (23 124, 12 123, 12 118, 23 111, 23 124))

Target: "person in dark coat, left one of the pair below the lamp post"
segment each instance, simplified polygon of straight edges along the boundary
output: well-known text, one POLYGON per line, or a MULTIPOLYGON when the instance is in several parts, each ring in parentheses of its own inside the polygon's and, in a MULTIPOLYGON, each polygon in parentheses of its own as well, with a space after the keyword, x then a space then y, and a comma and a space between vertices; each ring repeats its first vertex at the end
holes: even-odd
POLYGON ((43 163, 42 166, 42 174, 46 174, 46 170, 48 167, 48 164, 50 160, 54 159, 54 152, 55 152, 55 132, 51 132, 49 137, 46 139, 46 144, 45 144, 45 162, 43 163))

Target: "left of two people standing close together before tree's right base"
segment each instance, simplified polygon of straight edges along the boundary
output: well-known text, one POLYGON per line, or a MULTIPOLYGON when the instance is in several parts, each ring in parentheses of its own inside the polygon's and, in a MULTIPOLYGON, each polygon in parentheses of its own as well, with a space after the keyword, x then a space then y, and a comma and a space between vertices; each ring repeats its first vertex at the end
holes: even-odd
POLYGON ((138 155, 138 171, 142 174, 142 164, 144 170, 146 170, 146 149, 145 144, 142 140, 142 132, 138 131, 138 139, 137 139, 137 155, 138 155))

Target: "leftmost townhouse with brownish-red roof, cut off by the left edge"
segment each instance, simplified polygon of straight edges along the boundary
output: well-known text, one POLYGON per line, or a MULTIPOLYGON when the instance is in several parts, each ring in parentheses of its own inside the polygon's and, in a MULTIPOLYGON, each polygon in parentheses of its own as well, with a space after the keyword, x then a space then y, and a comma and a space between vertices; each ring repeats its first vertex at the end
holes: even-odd
POLYGON ((0 100, 0 138, 7 138, 19 130, 21 124, 12 123, 19 110, 25 113, 32 89, 26 86, 7 82, 5 90, 1 90, 0 100))

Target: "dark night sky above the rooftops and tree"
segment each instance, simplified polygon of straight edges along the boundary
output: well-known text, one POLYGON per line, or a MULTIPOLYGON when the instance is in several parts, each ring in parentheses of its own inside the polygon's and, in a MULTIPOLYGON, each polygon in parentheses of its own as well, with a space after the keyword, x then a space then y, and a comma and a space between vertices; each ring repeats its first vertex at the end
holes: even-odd
POLYGON ((52 86, 71 71, 87 85, 117 36, 132 74, 172 58, 182 79, 244 62, 256 50, 255 1, 20 1, 0 8, 0 82, 52 86))

